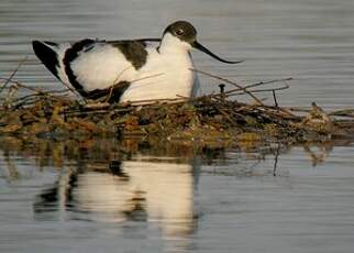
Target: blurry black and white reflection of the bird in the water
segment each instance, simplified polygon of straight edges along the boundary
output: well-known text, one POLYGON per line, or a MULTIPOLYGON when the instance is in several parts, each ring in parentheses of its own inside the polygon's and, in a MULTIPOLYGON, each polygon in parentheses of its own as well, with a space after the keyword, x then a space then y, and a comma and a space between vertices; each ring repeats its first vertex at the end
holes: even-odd
POLYGON ((74 211, 87 213, 85 219, 109 222, 154 221, 161 223, 165 235, 190 234, 192 165, 145 161, 118 163, 113 174, 87 170, 62 175, 55 187, 36 198, 37 219, 57 209, 62 215, 74 211))

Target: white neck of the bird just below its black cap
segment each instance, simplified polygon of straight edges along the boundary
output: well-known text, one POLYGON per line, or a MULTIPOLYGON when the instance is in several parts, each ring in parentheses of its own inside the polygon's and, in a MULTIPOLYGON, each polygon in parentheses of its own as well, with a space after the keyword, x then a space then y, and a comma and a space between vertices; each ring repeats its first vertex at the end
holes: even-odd
POLYGON ((180 41, 178 37, 173 36, 170 33, 166 33, 163 36, 163 40, 159 44, 159 53, 178 53, 178 54, 188 54, 191 50, 191 45, 187 42, 180 41))

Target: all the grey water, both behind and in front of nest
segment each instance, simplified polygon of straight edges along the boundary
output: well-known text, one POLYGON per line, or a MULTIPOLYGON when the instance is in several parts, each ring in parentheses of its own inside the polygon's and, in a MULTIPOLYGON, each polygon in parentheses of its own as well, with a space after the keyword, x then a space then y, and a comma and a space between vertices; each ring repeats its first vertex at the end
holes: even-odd
MULTIPOLYGON (((0 76, 27 57, 15 79, 53 89, 32 40, 159 36, 186 19, 210 50, 245 59, 193 52, 198 68, 240 84, 292 77, 283 106, 353 107, 353 11, 351 0, 1 0, 0 76)), ((0 252, 353 252, 352 141, 198 150, 2 138, 0 252)))

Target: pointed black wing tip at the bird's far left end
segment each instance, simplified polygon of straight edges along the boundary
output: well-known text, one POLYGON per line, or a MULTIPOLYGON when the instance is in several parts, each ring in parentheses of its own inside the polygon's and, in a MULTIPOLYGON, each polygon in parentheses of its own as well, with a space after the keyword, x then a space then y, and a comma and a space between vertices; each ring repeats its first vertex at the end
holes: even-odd
POLYGON ((53 42, 40 42, 40 41, 33 41, 32 47, 35 53, 35 55, 41 59, 41 62, 44 64, 44 66, 49 69, 49 72, 58 77, 57 67, 59 66, 58 62, 58 55, 54 50, 52 50, 48 45, 57 46, 57 44, 53 42))

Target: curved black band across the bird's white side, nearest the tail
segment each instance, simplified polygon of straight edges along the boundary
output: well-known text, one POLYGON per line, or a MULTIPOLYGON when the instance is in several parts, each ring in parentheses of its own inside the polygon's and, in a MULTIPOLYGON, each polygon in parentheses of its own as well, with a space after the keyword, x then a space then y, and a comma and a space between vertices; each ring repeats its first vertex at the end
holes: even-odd
POLYGON ((70 68, 70 63, 76 59, 79 55, 79 52, 82 51, 86 46, 95 43, 93 40, 86 38, 79 42, 76 42, 70 48, 65 52, 65 56, 63 59, 65 73, 73 85, 73 87, 84 97, 87 97, 89 92, 82 89, 82 86, 77 81, 76 76, 70 68))

